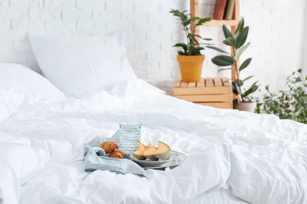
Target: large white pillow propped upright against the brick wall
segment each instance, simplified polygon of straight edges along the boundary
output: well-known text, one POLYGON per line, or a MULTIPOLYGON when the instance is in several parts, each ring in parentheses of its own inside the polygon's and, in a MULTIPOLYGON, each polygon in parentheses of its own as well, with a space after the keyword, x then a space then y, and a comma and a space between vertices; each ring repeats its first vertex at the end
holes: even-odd
POLYGON ((85 37, 29 33, 29 40, 43 75, 67 96, 81 97, 137 79, 121 34, 85 37))

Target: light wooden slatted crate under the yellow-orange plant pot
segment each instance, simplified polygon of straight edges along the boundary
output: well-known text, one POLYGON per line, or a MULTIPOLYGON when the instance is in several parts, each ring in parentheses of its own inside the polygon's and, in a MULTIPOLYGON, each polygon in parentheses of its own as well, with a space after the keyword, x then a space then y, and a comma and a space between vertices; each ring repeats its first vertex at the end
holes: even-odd
POLYGON ((204 106, 232 109, 232 87, 227 78, 203 78, 200 82, 177 79, 172 95, 204 106))

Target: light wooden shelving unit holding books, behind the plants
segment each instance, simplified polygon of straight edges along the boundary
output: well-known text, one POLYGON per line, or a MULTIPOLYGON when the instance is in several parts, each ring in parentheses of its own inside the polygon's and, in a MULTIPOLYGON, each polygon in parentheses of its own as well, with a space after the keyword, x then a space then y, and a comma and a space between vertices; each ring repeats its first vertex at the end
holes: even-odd
MULTIPOLYGON (((200 0, 190 0, 190 9, 191 9, 191 17, 196 17, 200 15, 200 0)), ((235 5, 234 5, 234 12, 232 16, 232 20, 210 20, 203 25, 211 25, 211 26, 222 26, 222 25, 229 25, 231 27, 231 33, 234 35, 236 28, 239 24, 239 0, 235 0, 235 5)), ((195 34, 199 34, 199 29, 195 31, 195 34)), ((231 50, 231 52, 233 52, 231 50)), ((232 53, 233 54, 233 53, 232 53)), ((232 81, 234 81, 237 78, 236 71, 231 70, 231 78, 232 81)))

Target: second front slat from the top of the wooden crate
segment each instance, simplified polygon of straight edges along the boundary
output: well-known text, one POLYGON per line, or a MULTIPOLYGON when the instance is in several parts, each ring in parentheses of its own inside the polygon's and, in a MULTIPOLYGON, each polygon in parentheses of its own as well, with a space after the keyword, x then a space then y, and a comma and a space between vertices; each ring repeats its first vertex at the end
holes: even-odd
POLYGON ((225 95, 176 95, 176 98, 191 102, 229 102, 232 97, 231 94, 225 95))

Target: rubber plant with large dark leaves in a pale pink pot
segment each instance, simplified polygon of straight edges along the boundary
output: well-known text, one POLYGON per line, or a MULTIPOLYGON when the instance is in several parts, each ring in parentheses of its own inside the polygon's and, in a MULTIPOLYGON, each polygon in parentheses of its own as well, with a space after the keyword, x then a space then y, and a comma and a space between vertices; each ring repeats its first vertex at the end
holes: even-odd
POLYGON ((241 66, 238 65, 240 56, 250 45, 250 42, 245 44, 249 27, 244 27, 244 18, 242 18, 234 35, 231 34, 226 25, 223 25, 223 31, 226 38, 223 43, 231 47, 233 54, 217 47, 210 47, 211 49, 227 54, 212 58, 212 62, 217 66, 231 66, 230 68, 223 68, 218 71, 226 69, 234 69, 236 71, 236 79, 232 82, 232 90, 236 95, 236 98, 233 100, 233 107, 240 111, 255 112, 257 102, 253 101, 253 97, 250 97, 250 94, 258 89, 258 81, 252 84, 249 89, 244 90, 242 88, 243 84, 253 76, 247 77, 244 80, 240 79, 240 71, 243 71, 251 63, 252 58, 245 60, 241 66))

